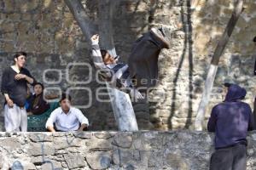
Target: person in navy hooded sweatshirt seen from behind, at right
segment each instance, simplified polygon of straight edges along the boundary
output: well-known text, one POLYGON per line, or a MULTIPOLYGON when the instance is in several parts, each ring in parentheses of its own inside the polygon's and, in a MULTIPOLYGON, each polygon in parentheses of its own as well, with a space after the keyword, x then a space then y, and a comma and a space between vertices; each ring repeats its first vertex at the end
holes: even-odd
POLYGON ((243 170, 247 162, 247 131, 253 130, 250 106, 241 101, 247 92, 231 84, 224 102, 212 108, 207 129, 215 132, 210 170, 243 170))

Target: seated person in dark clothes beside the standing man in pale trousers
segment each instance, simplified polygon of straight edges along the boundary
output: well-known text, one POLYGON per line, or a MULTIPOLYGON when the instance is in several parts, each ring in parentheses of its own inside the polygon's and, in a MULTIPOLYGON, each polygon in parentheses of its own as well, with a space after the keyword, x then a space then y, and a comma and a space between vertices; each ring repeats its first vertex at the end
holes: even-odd
POLYGON ((45 99, 56 99, 57 96, 44 96, 44 85, 41 82, 36 82, 33 85, 33 89, 35 94, 30 95, 26 100, 26 111, 28 115, 41 115, 50 108, 49 103, 44 100, 44 97, 45 99))

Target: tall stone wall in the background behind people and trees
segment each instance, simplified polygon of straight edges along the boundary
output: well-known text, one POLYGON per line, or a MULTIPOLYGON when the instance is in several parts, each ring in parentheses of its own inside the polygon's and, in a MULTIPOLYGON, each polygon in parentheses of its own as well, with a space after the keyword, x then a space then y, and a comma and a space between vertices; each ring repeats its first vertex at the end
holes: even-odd
MULTIPOLYGON (((90 20, 97 22, 97 1, 84 0, 83 4, 90 20)), ((207 117, 212 105, 223 99, 221 83, 225 78, 247 88, 246 101, 253 106, 255 5, 253 0, 245 4, 221 57, 207 117)), ((73 90, 74 105, 91 102, 83 111, 92 130, 116 129, 111 105, 96 99, 96 88, 103 86, 96 82, 95 69, 92 69, 89 83, 75 82, 90 77, 86 65, 71 65, 91 65, 90 44, 65 3, 61 0, 24 0, 22 3, 1 0, 0 8, 0 76, 3 68, 12 63, 14 52, 24 50, 28 53, 27 68, 39 82, 53 91, 55 88, 73 90), (67 75, 71 81, 67 80, 67 75), (88 97, 88 89, 92 98, 88 97)), ((119 1, 113 14, 113 39, 122 61, 127 60, 132 42, 152 26, 162 26, 172 44, 160 54, 159 85, 148 94, 148 101, 134 103, 140 129, 193 128, 207 68, 233 8, 233 0, 119 1)), ((0 100, 3 103, 2 97, 0 100)), ((2 105, 0 110, 3 111, 2 105)))

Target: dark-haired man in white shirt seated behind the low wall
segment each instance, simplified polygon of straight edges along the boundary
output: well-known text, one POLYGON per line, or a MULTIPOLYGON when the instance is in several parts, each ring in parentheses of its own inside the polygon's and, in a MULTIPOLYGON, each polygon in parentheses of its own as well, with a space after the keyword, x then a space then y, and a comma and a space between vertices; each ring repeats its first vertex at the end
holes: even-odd
POLYGON ((88 119, 82 111, 71 106, 70 95, 62 94, 60 105, 61 107, 51 112, 45 124, 49 132, 83 131, 84 128, 88 127, 88 119))

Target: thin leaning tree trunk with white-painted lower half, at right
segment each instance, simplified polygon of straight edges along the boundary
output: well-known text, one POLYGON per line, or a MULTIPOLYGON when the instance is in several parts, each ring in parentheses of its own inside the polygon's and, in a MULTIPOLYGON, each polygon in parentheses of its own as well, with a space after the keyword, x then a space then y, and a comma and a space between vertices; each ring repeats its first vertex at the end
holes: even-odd
POLYGON ((218 61, 220 56, 223 54, 224 48, 229 42, 230 36, 236 26, 236 22, 243 11, 243 3, 244 3, 244 0, 238 0, 236 2, 236 7, 233 10, 230 21, 226 26, 224 34, 219 40, 217 48, 215 49, 215 52, 212 56, 212 61, 207 74, 207 80, 205 82, 205 88, 202 94, 201 103, 198 107, 197 115, 195 118, 195 130, 200 130, 200 131, 202 130, 202 122, 205 117, 207 104, 209 102, 210 95, 212 92, 213 82, 216 76, 216 72, 218 70, 218 61))

